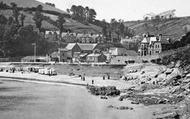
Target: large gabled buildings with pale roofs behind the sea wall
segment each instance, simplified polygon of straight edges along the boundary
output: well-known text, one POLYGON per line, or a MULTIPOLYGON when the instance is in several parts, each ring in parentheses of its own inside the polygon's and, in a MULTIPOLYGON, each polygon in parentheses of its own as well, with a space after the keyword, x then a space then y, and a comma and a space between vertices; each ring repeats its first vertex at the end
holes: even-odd
POLYGON ((68 43, 66 47, 52 53, 51 58, 61 62, 105 62, 106 56, 95 52, 97 45, 96 43, 68 43))

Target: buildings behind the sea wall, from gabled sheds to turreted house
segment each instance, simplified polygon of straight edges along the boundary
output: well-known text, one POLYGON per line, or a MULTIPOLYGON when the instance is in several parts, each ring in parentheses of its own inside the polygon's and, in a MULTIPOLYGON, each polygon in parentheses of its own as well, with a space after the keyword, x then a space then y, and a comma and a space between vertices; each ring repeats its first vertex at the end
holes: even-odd
POLYGON ((120 62, 120 59, 134 60, 137 56, 159 55, 164 47, 162 35, 158 37, 144 35, 142 40, 133 41, 132 39, 123 39, 122 44, 109 44, 104 50, 102 50, 102 44, 99 43, 68 43, 66 47, 60 48, 57 54, 59 54, 59 61, 62 62, 109 62, 113 61, 112 59, 120 62), (123 44, 133 44, 138 47, 134 50, 123 44))

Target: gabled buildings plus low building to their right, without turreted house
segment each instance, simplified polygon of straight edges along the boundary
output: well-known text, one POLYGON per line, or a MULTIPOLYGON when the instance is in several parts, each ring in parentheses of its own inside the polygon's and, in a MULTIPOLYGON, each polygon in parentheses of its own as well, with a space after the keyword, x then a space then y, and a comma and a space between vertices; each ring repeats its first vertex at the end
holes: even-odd
POLYGON ((61 62, 109 62, 115 56, 137 56, 135 51, 122 46, 109 46, 102 50, 102 44, 69 43, 65 48, 51 54, 51 58, 61 62))

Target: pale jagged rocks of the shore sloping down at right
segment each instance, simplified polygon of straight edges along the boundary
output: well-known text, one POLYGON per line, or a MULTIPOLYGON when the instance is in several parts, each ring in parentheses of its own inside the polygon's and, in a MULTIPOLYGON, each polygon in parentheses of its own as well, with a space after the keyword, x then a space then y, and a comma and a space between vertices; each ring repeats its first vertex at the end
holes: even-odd
POLYGON ((179 62, 168 66, 146 64, 126 67, 126 82, 137 84, 123 91, 119 100, 132 104, 169 105, 154 113, 155 119, 187 119, 189 115, 190 72, 180 68, 179 62))

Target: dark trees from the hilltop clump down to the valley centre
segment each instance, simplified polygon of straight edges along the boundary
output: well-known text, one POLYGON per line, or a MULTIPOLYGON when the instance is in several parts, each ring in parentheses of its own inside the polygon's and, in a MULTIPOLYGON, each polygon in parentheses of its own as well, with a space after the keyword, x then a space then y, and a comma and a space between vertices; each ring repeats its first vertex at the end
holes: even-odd
POLYGON ((113 34, 117 34, 117 39, 121 37, 132 37, 134 36, 134 31, 129 29, 124 25, 124 21, 111 19, 110 23, 105 20, 97 20, 96 19, 96 11, 94 9, 87 7, 83 7, 81 5, 76 6, 72 5, 70 9, 67 9, 67 12, 71 14, 71 18, 88 24, 94 24, 102 27, 102 33, 107 39, 113 39, 113 34))

